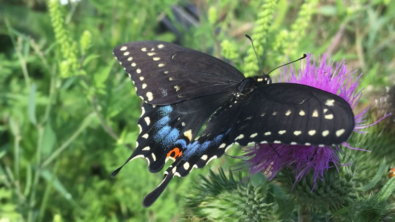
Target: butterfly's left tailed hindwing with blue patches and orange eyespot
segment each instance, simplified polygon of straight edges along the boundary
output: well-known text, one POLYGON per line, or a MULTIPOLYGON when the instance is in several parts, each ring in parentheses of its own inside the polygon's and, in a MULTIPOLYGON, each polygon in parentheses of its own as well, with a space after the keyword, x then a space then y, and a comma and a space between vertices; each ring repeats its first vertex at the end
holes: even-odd
POLYGON ((147 160, 150 172, 160 171, 167 159, 174 161, 181 156, 208 117, 230 97, 232 95, 215 94, 167 106, 143 103, 136 149, 112 176, 127 162, 140 157, 147 160))

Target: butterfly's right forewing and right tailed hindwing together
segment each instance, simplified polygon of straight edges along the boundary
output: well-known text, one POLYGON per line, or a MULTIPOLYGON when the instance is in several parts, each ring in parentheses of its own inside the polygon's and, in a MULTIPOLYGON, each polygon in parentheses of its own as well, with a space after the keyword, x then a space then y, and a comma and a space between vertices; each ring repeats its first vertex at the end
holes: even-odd
POLYGON ((192 169, 204 167, 233 143, 324 146, 346 141, 353 129, 353 111, 337 95, 294 83, 260 85, 216 111, 202 135, 165 171, 163 181, 144 198, 143 205, 151 206, 174 176, 185 177, 192 169))

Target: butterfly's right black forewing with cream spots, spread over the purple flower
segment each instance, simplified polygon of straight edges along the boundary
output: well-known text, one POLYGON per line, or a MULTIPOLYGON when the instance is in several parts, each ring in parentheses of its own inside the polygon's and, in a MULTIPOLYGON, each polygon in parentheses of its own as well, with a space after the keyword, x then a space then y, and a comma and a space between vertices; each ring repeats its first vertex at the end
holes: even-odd
POLYGON ((260 85, 247 96, 232 138, 248 143, 333 145, 354 130, 354 114, 341 97, 307 85, 260 85))

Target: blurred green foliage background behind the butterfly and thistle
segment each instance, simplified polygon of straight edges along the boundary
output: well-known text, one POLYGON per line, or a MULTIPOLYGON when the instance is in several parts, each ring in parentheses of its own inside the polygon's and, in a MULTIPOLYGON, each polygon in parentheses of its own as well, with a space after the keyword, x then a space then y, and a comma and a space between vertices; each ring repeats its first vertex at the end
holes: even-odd
MULTIPOLYGON (((150 174, 145 161, 138 159, 110 178, 134 148, 141 111, 141 101, 112 49, 128 41, 177 40, 228 59, 245 75, 258 74, 258 63, 244 34, 253 37, 266 71, 306 52, 346 59, 351 69, 364 73, 361 87, 367 94, 361 107, 394 83, 395 4, 391 0, 80 0, 65 5, 58 0, 0 1, 0 221, 213 220, 207 219, 212 212, 192 212, 195 205, 184 204, 185 193, 196 187, 192 181, 199 181, 198 175, 208 175, 208 168, 218 172, 219 165, 226 168, 240 163, 238 160, 223 157, 187 178, 174 179, 149 209, 142 207, 142 198, 158 185, 162 174, 150 174), (189 28, 172 11, 172 6, 187 3, 200 11, 199 20, 193 18, 196 22, 189 28), (165 16, 179 36, 163 29, 160 21, 165 16)), ((370 120, 383 114, 377 113, 370 120)), ((373 135, 377 138, 380 133, 377 128, 373 135)), ((369 157, 343 159, 364 161, 363 169, 344 167, 341 171, 341 175, 361 172, 343 179, 342 185, 351 186, 350 201, 362 196, 361 206, 370 206, 374 198, 363 199, 363 195, 386 183, 383 169, 395 161, 393 135, 385 134, 385 143, 363 143, 364 148, 379 150, 369 157), (381 174, 374 177, 377 172, 381 174), (360 183, 357 177, 366 178, 362 183, 373 178, 374 183, 365 187, 366 192, 351 195, 353 185, 360 183)), ((236 155, 238 150, 234 148, 230 154, 236 155)), ((285 173, 278 182, 291 187, 289 178, 285 173)), ((224 198, 239 195, 245 200, 240 194, 243 190, 285 195, 278 186, 232 187, 227 189, 231 194, 222 194, 224 198)), ((319 192, 293 198, 309 202, 319 199, 319 192)), ((278 199, 275 197, 272 202, 278 199)), ((351 206, 350 201, 331 203, 330 215, 314 214, 304 221, 334 220, 333 209, 351 206)), ((285 207, 280 203, 276 207, 285 207)), ((261 208, 268 212, 271 206, 261 208)), ((361 206, 353 209, 358 211, 361 206)), ((290 209, 293 216, 317 212, 308 205, 299 208, 290 209), (299 208, 298 214, 292 213, 299 208)), ((271 213, 279 215, 276 220, 292 218, 278 209, 271 213)), ((275 220, 266 214, 263 218, 275 220)))

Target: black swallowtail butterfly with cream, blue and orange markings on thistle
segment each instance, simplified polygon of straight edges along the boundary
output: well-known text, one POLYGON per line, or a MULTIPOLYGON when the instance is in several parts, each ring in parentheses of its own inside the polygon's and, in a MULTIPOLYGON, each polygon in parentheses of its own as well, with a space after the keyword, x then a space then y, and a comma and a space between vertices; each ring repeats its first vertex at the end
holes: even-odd
POLYGON ((136 148, 112 177, 136 158, 145 158, 152 173, 174 161, 144 197, 144 207, 174 176, 204 167, 233 144, 331 146, 346 141, 355 126, 350 105, 335 94, 272 83, 268 74, 245 78, 230 64, 190 48, 136 41, 113 54, 144 103, 136 148))

